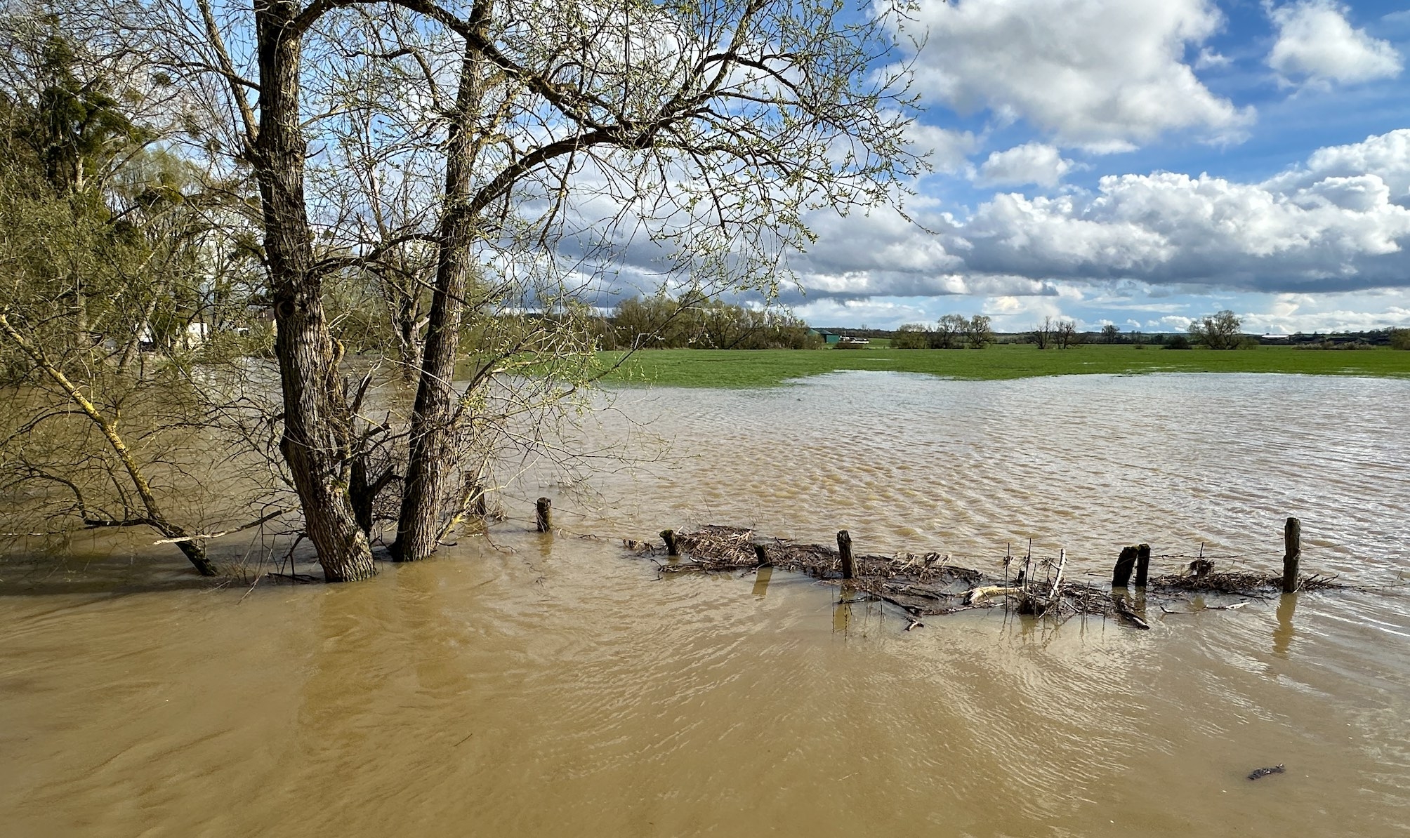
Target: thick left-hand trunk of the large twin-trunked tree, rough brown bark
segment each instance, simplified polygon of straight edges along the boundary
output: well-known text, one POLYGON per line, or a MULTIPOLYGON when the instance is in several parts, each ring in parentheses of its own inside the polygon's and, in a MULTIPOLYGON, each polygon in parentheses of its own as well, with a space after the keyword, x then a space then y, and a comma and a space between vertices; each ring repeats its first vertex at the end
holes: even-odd
POLYGON ((299 127, 299 6, 255 4, 259 51, 259 134, 254 148, 264 211, 283 389, 283 438, 303 507, 305 532, 329 582, 376 573, 372 549, 348 499, 351 417, 338 384, 338 359, 313 268, 313 234, 303 196, 306 142, 299 127))

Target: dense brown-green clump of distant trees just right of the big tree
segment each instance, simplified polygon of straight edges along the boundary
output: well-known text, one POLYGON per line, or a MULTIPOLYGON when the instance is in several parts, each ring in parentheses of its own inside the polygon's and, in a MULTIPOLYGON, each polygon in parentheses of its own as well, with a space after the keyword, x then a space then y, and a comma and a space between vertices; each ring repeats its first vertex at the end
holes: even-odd
POLYGON ((788 311, 657 293, 618 303, 599 321, 603 349, 816 349, 822 337, 788 311))

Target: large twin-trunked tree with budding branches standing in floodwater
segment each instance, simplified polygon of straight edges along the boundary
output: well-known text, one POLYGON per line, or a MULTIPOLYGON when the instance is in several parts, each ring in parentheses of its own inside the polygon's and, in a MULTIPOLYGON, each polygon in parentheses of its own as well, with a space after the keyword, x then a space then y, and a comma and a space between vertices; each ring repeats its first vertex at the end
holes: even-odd
POLYGON ((811 213, 898 206, 921 168, 888 63, 901 7, 885 3, 102 14, 228 117, 203 148, 259 185, 281 451, 330 580, 375 573, 365 510, 382 492, 400 493, 393 555, 430 555, 486 446, 601 373, 585 323, 627 261, 695 294, 767 297, 812 241, 811 213), (415 366, 405 423, 367 421, 367 382, 341 373, 327 293, 360 277, 389 289, 415 366))

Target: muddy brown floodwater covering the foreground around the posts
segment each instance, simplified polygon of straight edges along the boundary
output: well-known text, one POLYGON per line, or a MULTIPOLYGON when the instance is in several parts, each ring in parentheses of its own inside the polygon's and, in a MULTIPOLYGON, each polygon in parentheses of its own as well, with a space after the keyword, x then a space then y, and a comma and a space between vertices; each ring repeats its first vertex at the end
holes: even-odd
POLYGON ((668 459, 536 468, 489 538, 372 582, 185 587, 116 542, 42 583, 11 562, 0 834, 1402 835, 1406 404, 1300 376, 627 390, 594 439, 629 417, 668 459), (527 531, 539 494, 564 532, 527 531), (1385 590, 905 632, 812 579, 658 579, 574 535, 845 527, 986 569, 1034 538, 1097 575, 1136 539, 1276 566, 1286 515, 1306 570, 1385 590))

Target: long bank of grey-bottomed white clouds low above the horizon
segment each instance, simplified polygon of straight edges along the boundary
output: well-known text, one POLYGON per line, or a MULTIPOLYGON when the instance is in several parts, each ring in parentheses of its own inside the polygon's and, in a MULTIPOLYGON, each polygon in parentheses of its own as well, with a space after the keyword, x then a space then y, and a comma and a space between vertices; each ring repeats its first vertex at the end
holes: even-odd
MULTIPOLYGON (((1012 149, 1010 149, 1012 151, 1012 149)), ((998 193, 967 217, 922 207, 819 218, 795 261, 836 297, 1050 296, 1152 289, 1348 293, 1410 287, 1410 130, 1318 149, 1263 182, 1111 175, 1096 192, 998 193)), ((1403 293, 1403 292, 1400 292, 1403 293)))

